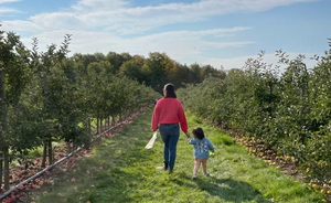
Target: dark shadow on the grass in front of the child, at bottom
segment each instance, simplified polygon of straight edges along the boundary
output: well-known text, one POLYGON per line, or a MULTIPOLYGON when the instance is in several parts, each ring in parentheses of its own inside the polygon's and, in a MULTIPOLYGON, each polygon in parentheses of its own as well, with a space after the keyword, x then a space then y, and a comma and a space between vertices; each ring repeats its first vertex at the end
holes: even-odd
MULTIPOLYGON (((181 174, 182 179, 191 180, 191 177, 181 174)), ((181 184, 181 181, 178 182, 181 184)), ((188 184, 186 184, 188 185, 188 184)), ((258 190, 254 189, 250 184, 236 181, 233 179, 217 179, 213 177, 197 178, 192 180, 191 188, 199 188, 212 196, 217 196, 225 202, 256 202, 256 203, 271 203, 258 190)))

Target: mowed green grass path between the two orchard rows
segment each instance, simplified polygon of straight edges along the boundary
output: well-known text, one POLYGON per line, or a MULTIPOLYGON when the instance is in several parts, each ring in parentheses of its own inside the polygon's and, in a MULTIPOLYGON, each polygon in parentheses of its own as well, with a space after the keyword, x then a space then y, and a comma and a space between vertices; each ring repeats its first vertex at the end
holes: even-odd
POLYGON ((322 195, 284 175, 264 161, 250 157, 221 129, 212 128, 186 114, 189 127, 201 126, 214 143, 215 157, 207 168, 212 177, 200 171, 192 180, 193 147, 182 133, 178 143, 174 173, 157 170, 162 165, 162 141, 143 147, 152 136, 152 109, 125 127, 117 137, 103 140, 94 157, 78 161, 78 167, 36 202, 322 202, 322 195), (103 170, 99 167, 103 165, 103 170), (76 182, 71 179, 75 178, 76 182))

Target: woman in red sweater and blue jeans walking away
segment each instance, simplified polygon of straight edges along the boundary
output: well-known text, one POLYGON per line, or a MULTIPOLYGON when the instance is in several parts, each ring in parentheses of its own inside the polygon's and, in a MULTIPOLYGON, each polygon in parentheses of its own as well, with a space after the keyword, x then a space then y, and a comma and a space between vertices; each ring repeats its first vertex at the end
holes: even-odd
POLYGON ((174 92, 172 84, 167 84, 163 88, 164 97, 158 100, 153 117, 152 117, 152 130, 157 131, 160 128, 161 138, 164 142, 163 158, 164 158, 164 171, 168 170, 171 173, 173 171, 175 161, 177 142, 180 136, 179 124, 182 131, 190 138, 188 122, 184 114, 183 106, 174 92))

